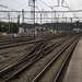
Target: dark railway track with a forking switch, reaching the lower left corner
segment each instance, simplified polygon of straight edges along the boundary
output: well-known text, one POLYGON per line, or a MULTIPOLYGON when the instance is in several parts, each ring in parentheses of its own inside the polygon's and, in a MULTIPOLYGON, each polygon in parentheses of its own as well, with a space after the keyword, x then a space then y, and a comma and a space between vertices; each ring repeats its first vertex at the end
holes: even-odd
POLYGON ((0 78, 2 78, 4 81, 10 81, 14 75, 19 74, 24 69, 32 66, 34 62, 42 59, 44 56, 46 56, 51 50, 54 50, 57 46, 62 44, 63 40, 66 40, 66 39, 62 39, 61 42, 55 43, 44 49, 43 49, 43 47, 45 46, 45 44, 40 44, 39 46, 37 45, 36 46, 37 51, 35 50, 36 48, 34 48, 34 50, 30 55, 25 55, 25 56, 21 57, 21 59, 19 59, 12 66, 0 70, 0 78), (40 52, 44 52, 45 55, 40 54, 40 52))

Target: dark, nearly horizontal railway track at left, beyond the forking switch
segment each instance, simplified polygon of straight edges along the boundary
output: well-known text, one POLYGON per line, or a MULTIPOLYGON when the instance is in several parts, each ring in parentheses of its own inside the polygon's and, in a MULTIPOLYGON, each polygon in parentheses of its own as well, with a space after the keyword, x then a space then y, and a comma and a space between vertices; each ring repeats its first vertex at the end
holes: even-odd
MULTIPOLYGON (((4 48, 9 48, 9 47, 15 47, 15 46, 20 46, 20 45, 26 45, 26 44, 35 44, 35 43, 39 43, 43 40, 50 40, 52 39, 54 36, 51 37, 44 37, 44 38, 13 38, 13 39, 3 39, 0 40, 0 49, 4 49, 4 48)), ((57 38, 57 37, 56 37, 57 38)))

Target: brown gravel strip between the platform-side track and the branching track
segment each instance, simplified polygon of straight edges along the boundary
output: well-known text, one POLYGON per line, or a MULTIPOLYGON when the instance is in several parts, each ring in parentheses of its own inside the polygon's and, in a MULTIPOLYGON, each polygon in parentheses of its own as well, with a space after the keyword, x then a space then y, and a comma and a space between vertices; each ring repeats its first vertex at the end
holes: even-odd
MULTIPOLYGON (((73 37, 71 37, 73 38, 73 37)), ((69 39, 70 40, 70 39, 69 39)), ((38 74, 38 72, 42 71, 42 69, 45 68, 45 66, 51 61, 51 59, 61 51, 61 49, 67 46, 66 43, 63 43, 61 46, 57 47, 52 52, 47 54, 44 52, 44 56, 42 59, 38 59, 37 62, 33 63, 31 67, 28 67, 25 71, 23 71, 22 74, 19 75, 19 79, 13 79, 11 80, 11 82, 32 82, 33 79, 36 78, 36 75, 38 74), (65 44, 65 45, 63 45, 65 44)), ((56 69, 56 67, 54 67, 56 69)), ((54 69, 54 70, 55 70, 54 69)), ((52 72, 51 72, 52 73, 52 72)), ((48 77, 49 78, 49 77, 48 77)), ((45 79, 45 78, 44 78, 45 79)), ((38 82, 38 81, 36 81, 38 82)), ((43 82, 43 81, 42 81, 43 82)), ((47 82, 47 81, 45 81, 47 82)), ((51 81, 48 81, 51 82, 51 81)))

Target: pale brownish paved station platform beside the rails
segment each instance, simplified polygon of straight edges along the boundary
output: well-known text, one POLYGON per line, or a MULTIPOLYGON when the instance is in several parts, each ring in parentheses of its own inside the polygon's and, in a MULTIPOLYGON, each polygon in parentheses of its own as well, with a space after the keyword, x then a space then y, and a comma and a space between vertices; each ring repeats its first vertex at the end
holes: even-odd
POLYGON ((73 51, 62 82, 82 82, 82 37, 73 51))

